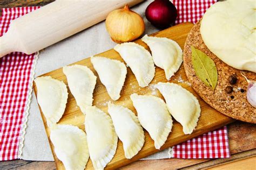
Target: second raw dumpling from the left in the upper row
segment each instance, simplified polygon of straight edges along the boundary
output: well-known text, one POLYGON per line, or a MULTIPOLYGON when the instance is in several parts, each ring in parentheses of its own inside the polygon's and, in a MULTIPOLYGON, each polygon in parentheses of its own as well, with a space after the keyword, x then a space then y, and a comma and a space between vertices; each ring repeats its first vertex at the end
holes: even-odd
POLYGON ((68 79, 69 89, 80 109, 83 111, 83 108, 91 106, 97 79, 92 71, 86 66, 73 65, 63 67, 63 73, 68 79))

